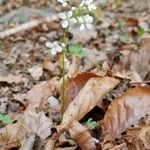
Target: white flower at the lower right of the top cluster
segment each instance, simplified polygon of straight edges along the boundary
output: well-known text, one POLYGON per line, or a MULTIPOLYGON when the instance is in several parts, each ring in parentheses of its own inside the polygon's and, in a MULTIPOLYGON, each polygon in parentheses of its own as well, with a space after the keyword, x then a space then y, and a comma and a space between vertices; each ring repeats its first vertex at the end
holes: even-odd
POLYGON ((81 31, 83 31, 85 28, 92 29, 93 17, 90 15, 78 17, 78 22, 81 24, 80 26, 81 31))

